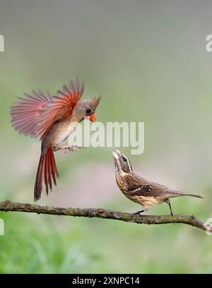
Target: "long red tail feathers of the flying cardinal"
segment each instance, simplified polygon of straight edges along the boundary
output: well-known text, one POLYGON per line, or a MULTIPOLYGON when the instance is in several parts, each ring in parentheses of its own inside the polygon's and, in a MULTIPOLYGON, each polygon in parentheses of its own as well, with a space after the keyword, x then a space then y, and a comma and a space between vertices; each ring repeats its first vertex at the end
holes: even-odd
POLYGON ((50 146, 46 153, 41 152, 40 161, 37 168, 37 175, 35 179, 35 188, 34 188, 34 200, 37 201, 40 199, 42 192, 42 179, 45 179, 46 193, 48 195, 49 188, 52 191, 52 179, 54 185, 56 186, 56 177, 59 177, 57 172, 57 166, 54 159, 54 153, 52 147, 50 146))

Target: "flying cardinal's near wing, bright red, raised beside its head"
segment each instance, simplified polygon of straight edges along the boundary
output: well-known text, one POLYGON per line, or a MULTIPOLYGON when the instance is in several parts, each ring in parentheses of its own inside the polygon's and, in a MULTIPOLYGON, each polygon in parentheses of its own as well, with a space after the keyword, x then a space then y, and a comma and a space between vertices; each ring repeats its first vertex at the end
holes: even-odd
POLYGON ((73 83, 69 82, 69 87, 63 86, 62 91, 57 91, 57 96, 52 97, 52 101, 47 103, 45 111, 42 112, 36 128, 36 135, 44 138, 49 128, 59 119, 71 116, 73 108, 80 100, 84 91, 84 82, 79 83, 78 78, 73 83))

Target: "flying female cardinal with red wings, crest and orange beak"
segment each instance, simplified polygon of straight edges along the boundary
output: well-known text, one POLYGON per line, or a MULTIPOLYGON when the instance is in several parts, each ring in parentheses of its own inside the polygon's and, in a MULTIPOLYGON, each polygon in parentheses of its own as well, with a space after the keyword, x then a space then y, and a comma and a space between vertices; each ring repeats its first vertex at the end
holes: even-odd
POLYGON ((95 109, 101 97, 81 100, 83 90, 83 81, 79 83, 76 79, 73 83, 71 80, 69 86, 64 85, 62 91, 57 91, 57 96, 51 96, 49 92, 44 95, 40 90, 33 90, 33 96, 24 93, 25 98, 18 97, 20 101, 11 107, 12 126, 20 133, 42 140, 35 179, 35 201, 41 196, 43 176, 47 195, 49 188, 52 191, 52 179, 56 185, 56 177, 59 177, 53 151, 64 149, 66 152, 80 148, 62 147, 61 143, 85 117, 90 121, 96 120, 95 109))

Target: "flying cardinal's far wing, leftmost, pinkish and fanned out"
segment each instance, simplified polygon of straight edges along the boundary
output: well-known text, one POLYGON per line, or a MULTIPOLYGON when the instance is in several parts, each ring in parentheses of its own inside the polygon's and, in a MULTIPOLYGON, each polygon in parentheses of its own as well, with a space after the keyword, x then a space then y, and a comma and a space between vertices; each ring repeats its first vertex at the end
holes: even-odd
POLYGON ((33 96, 24 93, 26 98, 18 97, 20 101, 11 107, 11 124, 20 133, 36 137, 38 119, 45 111, 45 105, 52 101, 52 97, 49 93, 45 96, 41 91, 32 92, 33 96))

